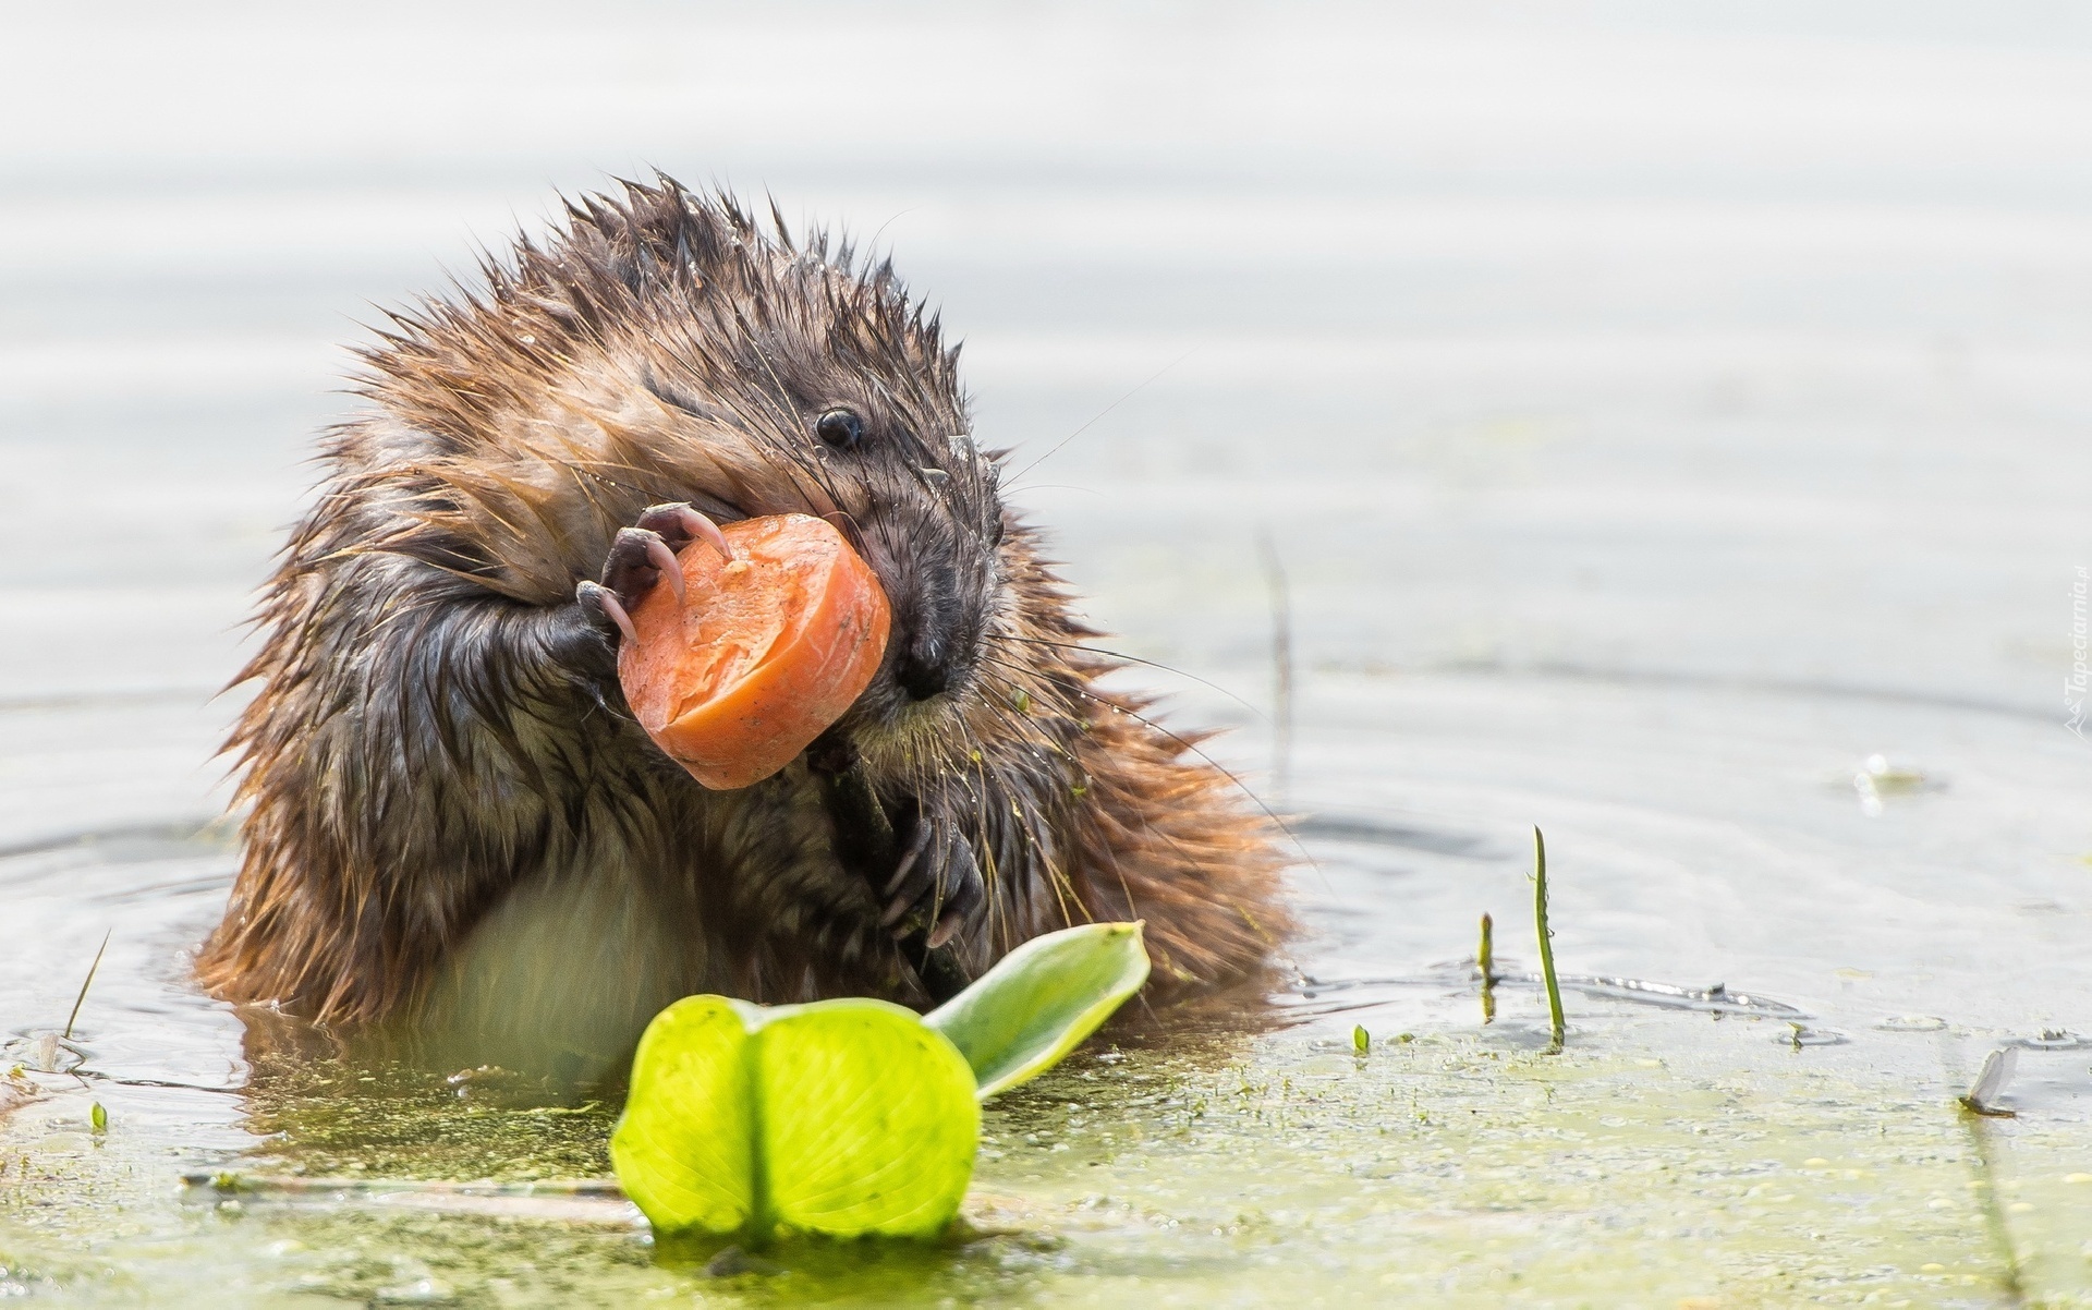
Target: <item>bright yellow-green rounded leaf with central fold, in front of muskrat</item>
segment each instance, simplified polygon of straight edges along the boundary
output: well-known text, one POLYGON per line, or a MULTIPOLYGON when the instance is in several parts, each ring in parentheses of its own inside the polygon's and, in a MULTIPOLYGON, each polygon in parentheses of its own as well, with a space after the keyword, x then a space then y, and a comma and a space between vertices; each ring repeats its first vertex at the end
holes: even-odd
POLYGON ((933 1237, 979 1132, 964 1057, 897 1004, 688 996, 640 1038, 611 1161, 665 1235, 933 1237))

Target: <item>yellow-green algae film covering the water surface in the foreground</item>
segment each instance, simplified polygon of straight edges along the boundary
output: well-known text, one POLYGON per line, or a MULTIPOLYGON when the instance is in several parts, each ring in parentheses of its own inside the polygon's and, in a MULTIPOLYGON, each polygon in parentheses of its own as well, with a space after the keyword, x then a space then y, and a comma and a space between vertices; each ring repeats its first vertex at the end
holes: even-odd
MULTIPOLYGON (((615 1207, 184 1193, 178 1151, 123 1113, 96 1147, 86 1099, 54 1094, 0 1130, 0 1264, 77 1302, 460 1306, 2006 1306, 2017 1266, 2033 1304, 2092 1306, 2084 1124, 1985 1122, 1985 1172, 1925 1036, 1789 1051, 1770 1027, 1636 1015, 1561 1055, 1502 1023, 1364 1055, 1341 1030, 1092 1046, 985 1109, 962 1239, 768 1264, 657 1251, 615 1207)), ((322 1061, 257 1084, 268 1136, 222 1164, 600 1176, 611 1111, 322 1061)))

